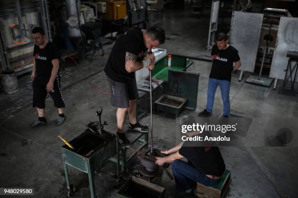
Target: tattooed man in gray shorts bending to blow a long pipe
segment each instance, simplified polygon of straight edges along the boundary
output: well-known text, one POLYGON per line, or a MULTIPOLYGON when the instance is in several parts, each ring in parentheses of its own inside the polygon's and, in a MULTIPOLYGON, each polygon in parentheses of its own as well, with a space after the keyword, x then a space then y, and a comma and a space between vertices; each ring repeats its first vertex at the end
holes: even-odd
POLYGON ((132 29, 117 39, 107 61, 105 72, 111 87, 111 104, 117 107, 117 135, 127 148, 131 146, 123 132, 127 111, 130 116, 130 131, 149 132, 148 126, 143 126, 136 120, 138 90, 135 71, 144 67, 152 70, 154 53, 149 54, 147 50, 155 49, 164 42, 165 31, 162 28, 132 29))

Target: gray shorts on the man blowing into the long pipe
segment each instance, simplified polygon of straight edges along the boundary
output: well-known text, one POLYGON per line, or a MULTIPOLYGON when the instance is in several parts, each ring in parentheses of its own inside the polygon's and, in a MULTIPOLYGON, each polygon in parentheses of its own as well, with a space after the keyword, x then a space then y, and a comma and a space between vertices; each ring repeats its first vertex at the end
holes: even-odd
POLYGON ((116 82, 107 76, 107 80, 110 84, 112 106, 117 108, 129 108, 129 100, 139 98, 135 78, 130 82, 116 82))

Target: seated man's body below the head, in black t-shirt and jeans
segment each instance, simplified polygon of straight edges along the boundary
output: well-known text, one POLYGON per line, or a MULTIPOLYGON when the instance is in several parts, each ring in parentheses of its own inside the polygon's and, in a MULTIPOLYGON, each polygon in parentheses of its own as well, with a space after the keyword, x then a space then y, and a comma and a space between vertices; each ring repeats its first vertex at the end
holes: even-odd
POLYGON ((223 157, 218 147, 194 147, 182 142, 166 151, 167 157, 156 157, 156 164, 172 163, 172 172, 176 186, 172 189, 174 198, 194 198, 189 181, 205 186, 218 183, 225 170, 223 157), (187 163, 182 161, 187 159, 187 163))

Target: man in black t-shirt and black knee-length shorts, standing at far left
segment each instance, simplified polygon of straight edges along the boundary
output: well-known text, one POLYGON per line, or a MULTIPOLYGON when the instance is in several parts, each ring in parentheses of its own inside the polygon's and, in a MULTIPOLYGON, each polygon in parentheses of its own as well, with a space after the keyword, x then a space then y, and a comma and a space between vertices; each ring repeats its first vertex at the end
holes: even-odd
POLYGON ((58 109, 59 115, 55 125, 59 126, 66 119, 63 114, 65 101, 60 89, 59 52, 54 44, 47 40, 42 28, 35 27, 32 30, 32 37, 35 46, 31 80, 33 81, 33 107, 37 108, 38 119, 31 123, 31 127, 47 123, 44 116, 47 93, 50 94, 58 109))

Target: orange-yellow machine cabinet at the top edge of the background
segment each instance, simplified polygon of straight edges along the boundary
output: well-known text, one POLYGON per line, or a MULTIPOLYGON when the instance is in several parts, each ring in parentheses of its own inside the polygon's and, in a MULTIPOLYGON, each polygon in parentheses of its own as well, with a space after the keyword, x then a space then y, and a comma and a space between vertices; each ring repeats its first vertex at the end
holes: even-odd
POLYGON ((107 12, 102 15, 105 20, 117 20, 126 17, 126 0, 96 0, 107 4, 107 12))

